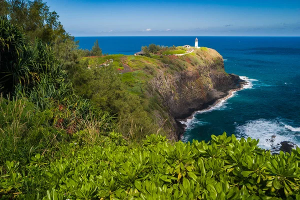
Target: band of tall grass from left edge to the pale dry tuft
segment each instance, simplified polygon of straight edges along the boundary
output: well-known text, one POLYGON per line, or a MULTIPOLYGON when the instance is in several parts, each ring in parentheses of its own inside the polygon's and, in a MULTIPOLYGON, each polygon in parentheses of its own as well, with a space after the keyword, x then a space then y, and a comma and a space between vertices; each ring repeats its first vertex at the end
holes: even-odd
POLYGON ((25 98, 9 100, 1 96, 0 165, 6 160, 25 164, 36 153, 51 158, 69 142, 99 145, 103 136, 114 130, 113 117, 107 112, 95 115, 90 111, 83 118, 74 114, 76 111, 57 110, 55 106, 41 109, 25 98))

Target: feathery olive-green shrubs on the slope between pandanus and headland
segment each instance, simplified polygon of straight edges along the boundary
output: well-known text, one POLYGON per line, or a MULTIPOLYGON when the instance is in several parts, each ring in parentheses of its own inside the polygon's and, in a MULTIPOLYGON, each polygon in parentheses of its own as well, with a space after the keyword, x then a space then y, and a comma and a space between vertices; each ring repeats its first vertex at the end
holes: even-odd
MULTIPOLYGON (((151 123, 151 118, 142 106, 142 98, 134 92, 128 92, 124 83, 127 80, 122 81, 115 67, 90 66, 87 69, 86 61, 80 62, 72 78, 75 92, 114 115, 119 123, 118 131, 126 137, 140 139, 149 132, 156 132, 158 127, 151 123)), ((126 77, 128 74, 123 75, 126 77)), ((140 88, 138 90, 140 92, 140 88)))

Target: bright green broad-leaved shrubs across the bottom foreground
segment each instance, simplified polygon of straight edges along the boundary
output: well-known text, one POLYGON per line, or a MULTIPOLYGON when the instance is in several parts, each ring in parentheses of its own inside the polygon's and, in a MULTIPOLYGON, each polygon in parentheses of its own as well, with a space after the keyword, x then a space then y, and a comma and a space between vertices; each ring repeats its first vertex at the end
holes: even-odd
POLYGON ((111 133, 101 145, 69 143, 55 161, 35 154, 6 161, 0 195, 43 199, 300 199, 300 148, 271 155, 257 140, 211 136, 210 143, 147 136, 128 144, 111 133))

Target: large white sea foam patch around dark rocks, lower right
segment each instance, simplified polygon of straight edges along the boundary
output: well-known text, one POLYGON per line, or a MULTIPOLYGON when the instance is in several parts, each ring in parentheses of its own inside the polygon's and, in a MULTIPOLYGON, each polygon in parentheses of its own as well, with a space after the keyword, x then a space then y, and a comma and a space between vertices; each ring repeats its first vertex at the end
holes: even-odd
POLYGON ((285 126, 277 120, 257 119, 247 121, 243 125, 236 124, 235 132, 239 137, 259 139, 258 145, 264 149, 278 150, 281 141, 291 141, 300 146, 297 135, 290 134, 285 126))

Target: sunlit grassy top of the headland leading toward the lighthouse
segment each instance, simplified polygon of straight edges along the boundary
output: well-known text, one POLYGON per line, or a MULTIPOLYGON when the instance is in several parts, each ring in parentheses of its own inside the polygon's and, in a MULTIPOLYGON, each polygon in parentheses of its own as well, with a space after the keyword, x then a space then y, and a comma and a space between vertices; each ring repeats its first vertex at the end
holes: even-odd
MULTIPOLYGON (((183 52, 184 53, 184 52, 183 52)), ((174 74, 183 70, 195 70, 198 65, 212 64, 213 62, 220 62, 219 54, 210 48, 201 47, 195 49, 193 53, 183 56, 175 55, 156 55, 134 56, 123 54, 112 54, 99 57, 84 57, 90 65, 98 65, 106 60, 113 59, 113 67, 120 68, 119 63, 128 64, 132 72, 121 74, 121 79, 128 85, 128 91, 141 94, 140 87, 146 89, 146 83, 150 81, 157 73, 157 70, 163 70, 166 74, 174 74), (165 67, 167 65, 167 67, 165 67)), ((221 66, 220 63, 217 67, 221 66)), ((220 73, 226 72, 222 67, 217 68, 220 73)))

